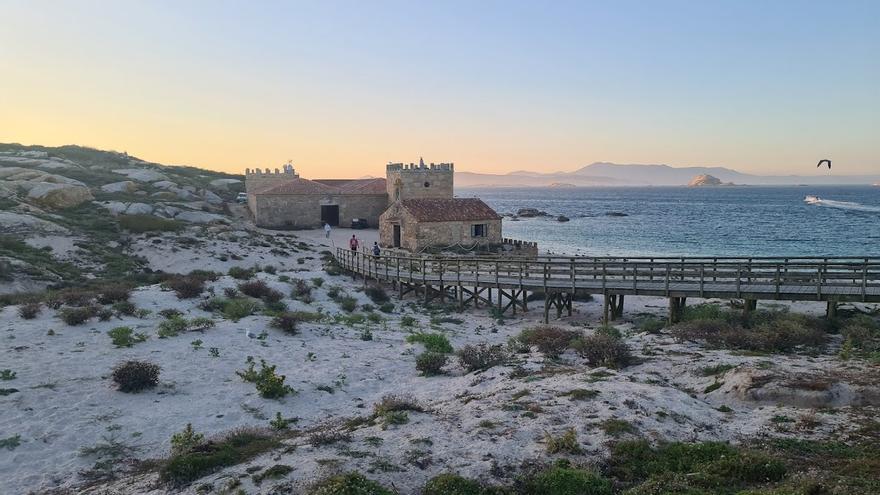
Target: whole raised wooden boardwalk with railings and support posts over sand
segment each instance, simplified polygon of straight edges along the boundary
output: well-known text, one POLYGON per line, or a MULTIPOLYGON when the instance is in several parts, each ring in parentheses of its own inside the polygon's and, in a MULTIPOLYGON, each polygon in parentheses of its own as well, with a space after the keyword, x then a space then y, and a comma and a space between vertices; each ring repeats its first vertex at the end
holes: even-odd
POLYGON ((582 294, 604 297, 605 319, 620 316, 626 295, 669 298, 677 321, 688 297, 825 301, 833 316, 839 302, 880 302, 880 258, 611 258, 373 256, 339 248, 336 261, 368 280, 390 283, 401 297, 414 292, 426 302, 527 311, 543 295, 544 320, 555 308, 571 314, 582 294))

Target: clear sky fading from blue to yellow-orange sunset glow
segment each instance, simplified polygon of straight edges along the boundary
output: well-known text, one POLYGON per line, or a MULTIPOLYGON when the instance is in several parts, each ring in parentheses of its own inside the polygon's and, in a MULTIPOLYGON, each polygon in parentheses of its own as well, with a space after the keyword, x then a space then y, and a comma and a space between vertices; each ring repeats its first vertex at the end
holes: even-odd
POLYGON ((880 173, 880 1, 0 0, 0 142, 228 172, 880 173))

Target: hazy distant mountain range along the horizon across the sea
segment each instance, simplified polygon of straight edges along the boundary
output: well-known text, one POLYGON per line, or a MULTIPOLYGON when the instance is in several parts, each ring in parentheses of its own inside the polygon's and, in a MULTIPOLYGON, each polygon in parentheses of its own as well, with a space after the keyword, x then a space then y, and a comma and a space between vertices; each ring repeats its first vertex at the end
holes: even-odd
MULTIPOLYGON (((824 169, 823 169, 824 170, 824 169)), ((670 167, 669 165, 621 165, 597 162, 573 172, 508 174, 456 172, 456 187, 548 187, 548 186, 685 186, 698 175, 711 175, 737 185, 871 185, 880 175, 752 175, 725 167, 670 167)))

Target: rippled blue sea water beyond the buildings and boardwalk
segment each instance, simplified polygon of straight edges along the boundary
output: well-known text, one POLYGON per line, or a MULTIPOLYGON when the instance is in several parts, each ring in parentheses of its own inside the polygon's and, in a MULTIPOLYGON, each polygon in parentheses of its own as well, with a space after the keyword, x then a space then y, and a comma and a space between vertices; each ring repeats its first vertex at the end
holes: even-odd
POLYGON ((554 253, 608 256, 880 256, 880 187, 457 189, 499 213, 505 237, 554 253), (822 201, 804 202, 814 195, 822 201), (609 212, 627 216, 608 216, 609 212))

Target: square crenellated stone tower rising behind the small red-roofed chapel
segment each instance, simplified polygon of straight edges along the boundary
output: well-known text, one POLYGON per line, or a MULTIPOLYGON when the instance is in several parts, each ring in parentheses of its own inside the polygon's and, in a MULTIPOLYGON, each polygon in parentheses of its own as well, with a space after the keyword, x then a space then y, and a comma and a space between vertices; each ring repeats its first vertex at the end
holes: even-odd
POLYGON ((389 163, 385 167, 388 200, 452 197, 452 163, 389 163))

